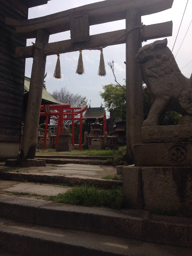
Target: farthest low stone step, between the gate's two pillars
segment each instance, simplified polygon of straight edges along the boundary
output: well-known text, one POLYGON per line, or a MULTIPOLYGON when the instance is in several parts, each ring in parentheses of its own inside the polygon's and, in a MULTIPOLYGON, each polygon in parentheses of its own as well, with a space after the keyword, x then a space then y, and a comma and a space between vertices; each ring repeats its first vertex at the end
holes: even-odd
POLYGON ((77 159, 77 158, 54 158, 54 157, 36 157, 37 160, 45 160, 46 163, 50 164, 66 164, 66 163, 77 163, 77 164, 94 164, 94 165, 103 165, 106 164, 105 159, 77 159))

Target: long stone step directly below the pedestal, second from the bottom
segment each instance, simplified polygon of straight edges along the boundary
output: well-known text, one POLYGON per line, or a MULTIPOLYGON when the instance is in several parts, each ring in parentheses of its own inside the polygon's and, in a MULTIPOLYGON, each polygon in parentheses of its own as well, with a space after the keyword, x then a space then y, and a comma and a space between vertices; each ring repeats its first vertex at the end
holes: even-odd
POLYGON ((47 227, 192 247, 191 218, 155 215, 147 210, 84 207, 0 195, 0 217, 47 227))

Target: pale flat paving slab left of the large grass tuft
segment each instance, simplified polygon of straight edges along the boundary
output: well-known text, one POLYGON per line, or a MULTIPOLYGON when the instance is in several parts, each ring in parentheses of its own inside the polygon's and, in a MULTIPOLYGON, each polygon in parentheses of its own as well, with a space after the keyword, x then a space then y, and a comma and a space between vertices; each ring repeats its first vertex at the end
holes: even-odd
POLYGON ((36 193, 40 195, 57 195, 58 193, 65 193, 69 189, 70 189, 69 187, 59 187, 54 185, 41 185, 41 184, 21 182, 2 190, 9 191, 9 192, 36 193))

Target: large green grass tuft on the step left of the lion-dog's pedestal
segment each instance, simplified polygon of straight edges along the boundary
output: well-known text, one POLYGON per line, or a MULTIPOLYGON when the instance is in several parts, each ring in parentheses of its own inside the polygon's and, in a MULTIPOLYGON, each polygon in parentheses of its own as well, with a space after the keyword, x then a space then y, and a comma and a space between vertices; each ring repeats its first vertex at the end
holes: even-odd
POLYGON ((50 199, 55 202, 109 208, 121 208, 123 204, 122 188, 104 191, 88 184, 75 186, 66 193, 51 196, 50 199))

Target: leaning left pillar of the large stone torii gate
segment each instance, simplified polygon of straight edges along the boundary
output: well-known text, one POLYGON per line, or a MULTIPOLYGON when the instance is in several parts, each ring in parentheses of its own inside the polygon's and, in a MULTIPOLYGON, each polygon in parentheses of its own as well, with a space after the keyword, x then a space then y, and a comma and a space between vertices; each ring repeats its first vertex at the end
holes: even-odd
MULTIPOLYGON (((49 34, 46 31, 42 29, 37 30, 35 46, 44 48, 44 44, 48 43, 48 38, 49 34)), ((35 157, 45 64, 46 55, 44 55, 44 51, 42 49, 34 48, 30 88, 28 92, 26 117, 20 151, 21 159, 35 157)))

